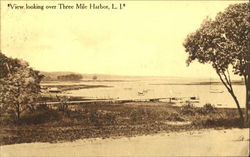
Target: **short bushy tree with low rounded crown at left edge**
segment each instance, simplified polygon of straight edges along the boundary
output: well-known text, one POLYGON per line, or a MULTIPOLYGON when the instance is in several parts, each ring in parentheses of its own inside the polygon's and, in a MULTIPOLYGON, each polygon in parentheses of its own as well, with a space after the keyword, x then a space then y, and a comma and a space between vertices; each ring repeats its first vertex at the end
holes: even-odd
POLYGON ((1 107, 12 110, 19 119, 22 112, 34 107, 42 75, 27 62, 8 58, 1 52, 0 67, 1 107))

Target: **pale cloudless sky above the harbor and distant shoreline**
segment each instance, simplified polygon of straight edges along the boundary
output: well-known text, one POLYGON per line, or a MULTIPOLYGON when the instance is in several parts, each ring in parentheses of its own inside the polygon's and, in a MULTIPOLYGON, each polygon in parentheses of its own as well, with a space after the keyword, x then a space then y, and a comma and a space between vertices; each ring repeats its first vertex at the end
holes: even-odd
MULTIPOLYGON (((18 5, 59 2, 17 1, 18 5)), ((64 2, 75 5, 77 2, 64 2)), ((1 51, 41 71, 216 77, 211 65, 186 65, 186 36, 234 1, 106 1, 122 10, 12 10, 1 2, 1 51)))

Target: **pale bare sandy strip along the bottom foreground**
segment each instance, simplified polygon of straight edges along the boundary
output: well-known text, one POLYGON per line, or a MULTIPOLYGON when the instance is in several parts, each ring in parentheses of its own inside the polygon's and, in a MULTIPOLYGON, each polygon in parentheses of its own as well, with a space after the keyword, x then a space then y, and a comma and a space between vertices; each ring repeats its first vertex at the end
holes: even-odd
POLYGON ((247 156, 249 129, 200 130, 118 139, 1 146, 1 157, 29 156, 247 156))

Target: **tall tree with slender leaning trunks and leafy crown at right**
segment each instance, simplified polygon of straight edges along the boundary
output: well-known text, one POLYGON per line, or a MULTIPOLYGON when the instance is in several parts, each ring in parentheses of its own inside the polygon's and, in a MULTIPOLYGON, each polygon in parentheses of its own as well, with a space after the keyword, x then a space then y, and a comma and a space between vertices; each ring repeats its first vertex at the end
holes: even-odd
MULTIPOLYGON (((211 64, 230 95, 233 97, 243 124, 243 113, 234 93, 230 69, 244 78, 246 93, 249 91, 249 5, 229 5, 214 20, 206 18, 200 28, 187 36, 183 45, 188 53, 187 64, 194 60, 211 64)), ((248 124, 249 96, 246 95, 245 122, 248 124)))

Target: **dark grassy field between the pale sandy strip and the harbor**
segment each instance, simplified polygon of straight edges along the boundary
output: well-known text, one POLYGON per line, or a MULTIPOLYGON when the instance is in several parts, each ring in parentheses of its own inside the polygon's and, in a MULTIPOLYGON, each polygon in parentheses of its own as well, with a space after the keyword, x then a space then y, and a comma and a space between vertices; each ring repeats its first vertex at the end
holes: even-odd
POLYGON ((29 142, 60 142, 83 138, 107 138, 185 131, 203 128, 239 127, 236 109, 182 107, 160 102, 125 104, 96 103, 55 110, 43 105, 18 121, 2 118, 1 145, 29 142), (4 123, 4 121, 7 121, 4 123), (168 122, 191 122, 173 125, 168 122))

